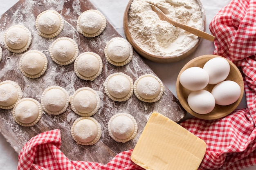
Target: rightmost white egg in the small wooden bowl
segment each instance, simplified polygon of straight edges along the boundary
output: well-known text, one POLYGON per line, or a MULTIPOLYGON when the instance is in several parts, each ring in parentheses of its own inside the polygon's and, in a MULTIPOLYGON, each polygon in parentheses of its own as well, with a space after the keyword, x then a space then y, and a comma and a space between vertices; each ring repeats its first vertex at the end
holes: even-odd
POLYGON ((216 84, 211 94, 215 98, 215 102, 221 106, 227 106, 236 102, 241 94, 240 86, 231 80, 226 80, 216 84))

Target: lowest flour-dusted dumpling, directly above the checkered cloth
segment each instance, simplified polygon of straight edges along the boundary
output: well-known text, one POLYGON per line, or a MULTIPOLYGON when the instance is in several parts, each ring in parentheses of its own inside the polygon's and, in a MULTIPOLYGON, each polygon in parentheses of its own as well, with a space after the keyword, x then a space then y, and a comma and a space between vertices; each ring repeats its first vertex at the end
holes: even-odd
POLYGON ((93 145, 101 138, 101 125, 92 117, 80 117, 74 121, 71 135, 78 144, 93 145))

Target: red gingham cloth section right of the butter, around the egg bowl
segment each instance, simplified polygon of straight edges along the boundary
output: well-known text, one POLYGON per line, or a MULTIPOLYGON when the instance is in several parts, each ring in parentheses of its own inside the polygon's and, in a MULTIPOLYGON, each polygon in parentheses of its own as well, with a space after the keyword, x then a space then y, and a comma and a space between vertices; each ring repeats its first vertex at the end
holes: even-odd
POLYGON ((207 143, 202 170, 239 170, 256 165, 256 0, 232 0, 209 25, 213 54, 241 67, 247 108, 222 119, 198 118, 181 125, 207 143))

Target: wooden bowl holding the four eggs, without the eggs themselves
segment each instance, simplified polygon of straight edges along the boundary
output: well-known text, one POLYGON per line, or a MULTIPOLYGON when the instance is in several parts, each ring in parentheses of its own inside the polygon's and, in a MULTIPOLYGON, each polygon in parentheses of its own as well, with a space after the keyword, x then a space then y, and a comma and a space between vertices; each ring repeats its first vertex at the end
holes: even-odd
MULTIPOLYGON (((234 102, 233 104, 227 105, 227 106, 220 106, 220 105, 216 105, 218 108, 214 108, 213 111, 211 111, 210 113, 207 113, 205 115, 202 114, 198 114, 195 113, 193 110, 191 110, 191 108, 189 107, 189 105, 187 104, 187 99, 184 98, 184 96, 182 95, 182 89, 184 88, 181 84, 180 84, 180 75, 181 73, 186 70, 187 68, 194 66, 197 66, 196 63, 198 63, 199 60, 205 59, 205 58, 209 58, 212 59, 214 57, 222 57, 219 55, 201 55, 199 57, 196 57, 192 60, 190 60, 187 64, 185 64, 183 66, 183 68, 181 69, 178 77, 177 77, 177 81, 176 81, 176 93, 177 93, 177 98, 180 101, 180 104, 182 105, 182 107, 191 115, 193 115, 194 117, 200 118, 200 119, 205 119, 205 120, 214 120, 214 119, 220 119, 222 117, 225 117, 227 115, 229 115, 230 113, 232 113, 236 107, 238 106, 238 104, 241 102, 242 98, 243 98, 243 93, 244 93, 244 82, 243 82, 243 76, 240 72, 240 70, 238 69, 238 67, 231 62, 230 60, 228 60, 225 57, 222 57, 224 59, 226 59, 229 62, 230 67, 232 67, 231 69, 234 69, 235 74, 237 75, 238 79, 235 81, 236 83, 239 84, 240 89, 241 89, 241 94, 240 97, 238 98, 238 100, 236 102, 234 102), (223 112, 215 112, 215 110, 219 110, 219 108, 226 108, 226 110, 223 110, 223 112), (228 108, 228 110, 227 110, 228 108)), ((208 60, 207 60, 208 61, 208 60)), ((202 63, 200 63, 202 64, 202 63)), ((234 80, 233 80, 234 81, 234 80)), ((214 85, 212 85, 214 86, 214 85)))

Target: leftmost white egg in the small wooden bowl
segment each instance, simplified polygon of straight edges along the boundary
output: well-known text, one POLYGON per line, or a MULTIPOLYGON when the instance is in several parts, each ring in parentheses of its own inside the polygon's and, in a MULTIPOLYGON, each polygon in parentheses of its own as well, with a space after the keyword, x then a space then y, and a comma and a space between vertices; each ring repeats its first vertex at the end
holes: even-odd
POLYGON ((190 67, 180 75, 180 84, 191 91, 198 91, 207 86, 209 82, 208 73, 200 67, 190 67))

